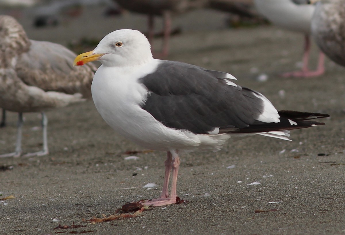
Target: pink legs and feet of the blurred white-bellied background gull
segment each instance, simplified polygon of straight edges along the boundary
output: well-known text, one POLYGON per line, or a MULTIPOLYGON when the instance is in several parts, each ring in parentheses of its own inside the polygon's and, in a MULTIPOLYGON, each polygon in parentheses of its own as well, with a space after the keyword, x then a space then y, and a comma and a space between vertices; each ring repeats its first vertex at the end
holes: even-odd
POLYGON ((308 63, 309 63, 309 53, 310 53, 310 38, 309 35, 305 35, 305 44, 304 44, 304 54, 303 54, 303 67, 302 70, 300 71, 295 71, 295 72, 289 72, 289 73, 284 73, 282 76, 284 77, 312 77, 312 76, 318 76, 321 75, 325 72, 324 68, 324 54, 319 55, 319 61, 318 61, 318 66, 315 71, 310 71, 308 68, 308 63))

